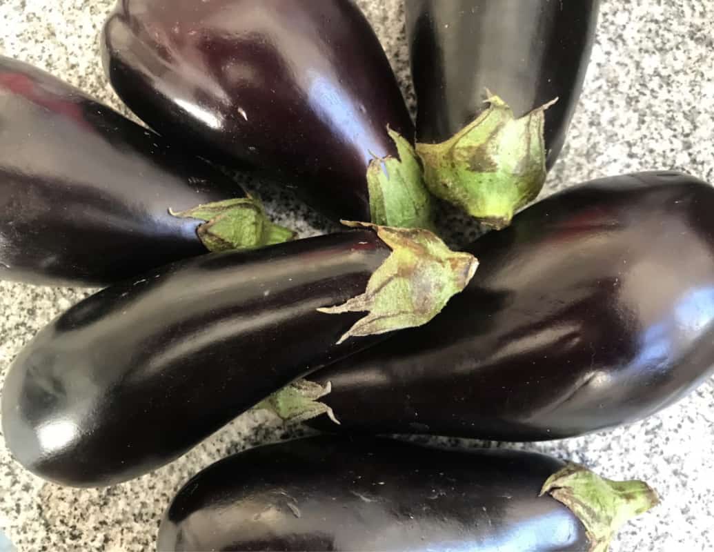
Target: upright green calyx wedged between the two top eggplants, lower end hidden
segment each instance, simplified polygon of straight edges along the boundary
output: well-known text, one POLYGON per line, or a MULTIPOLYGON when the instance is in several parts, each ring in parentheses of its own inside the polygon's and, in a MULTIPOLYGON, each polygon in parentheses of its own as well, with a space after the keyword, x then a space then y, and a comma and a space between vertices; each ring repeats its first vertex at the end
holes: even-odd
POLYGON ((399 159, 376 157, 367 169, 373 224, 433 229, 433 201, 411 144, 387 127, 399 159))

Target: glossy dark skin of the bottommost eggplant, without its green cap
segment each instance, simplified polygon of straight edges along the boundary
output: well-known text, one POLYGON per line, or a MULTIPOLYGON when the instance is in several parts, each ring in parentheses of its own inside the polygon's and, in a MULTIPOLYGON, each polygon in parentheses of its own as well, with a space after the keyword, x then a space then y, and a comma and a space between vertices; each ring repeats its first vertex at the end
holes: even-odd
POLYGON ((253 448, 179 491, 169 551, 585 551, 578 518, 540 486, 563 463, 522 451, 445 451, 388 439, 253 448))

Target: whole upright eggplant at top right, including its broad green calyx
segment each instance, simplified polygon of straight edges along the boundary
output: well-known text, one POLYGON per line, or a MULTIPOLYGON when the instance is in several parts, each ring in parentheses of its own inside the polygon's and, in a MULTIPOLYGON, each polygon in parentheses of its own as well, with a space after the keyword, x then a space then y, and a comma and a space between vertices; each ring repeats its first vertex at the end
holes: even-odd
POLYGON ((405 6, 426 185, 501 229, 538 196, 563 147, 599 0, 405 6))

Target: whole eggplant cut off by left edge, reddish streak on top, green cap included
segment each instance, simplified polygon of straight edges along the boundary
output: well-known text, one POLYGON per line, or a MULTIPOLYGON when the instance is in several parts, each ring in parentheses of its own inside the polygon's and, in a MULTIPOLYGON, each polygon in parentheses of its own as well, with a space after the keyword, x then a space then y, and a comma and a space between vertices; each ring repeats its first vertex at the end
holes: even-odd
POLYGON ((205 161, 54 76, 0 57, 1 279, 104 286, 209 250, 293 235, 205 161))

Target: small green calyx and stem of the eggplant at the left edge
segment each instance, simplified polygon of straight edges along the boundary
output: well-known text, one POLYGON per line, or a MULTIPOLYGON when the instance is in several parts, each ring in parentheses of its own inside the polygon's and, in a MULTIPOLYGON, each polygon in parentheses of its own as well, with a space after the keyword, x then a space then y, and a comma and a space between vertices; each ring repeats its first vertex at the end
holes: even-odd
POLYGON ((169 209, 169 213, 181 219, 205 221, 196 234, 214 253, 281 244, 296 236, 292 230, 273 224, 261 201, 251 196, 198 205, 186 211, 169 209))

